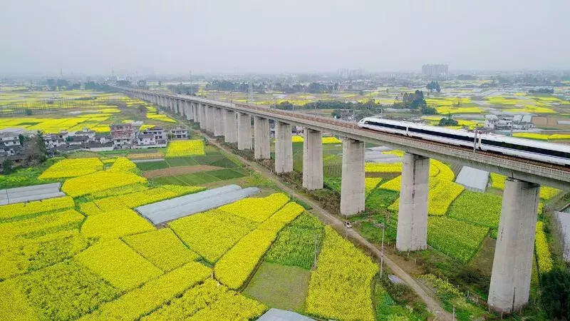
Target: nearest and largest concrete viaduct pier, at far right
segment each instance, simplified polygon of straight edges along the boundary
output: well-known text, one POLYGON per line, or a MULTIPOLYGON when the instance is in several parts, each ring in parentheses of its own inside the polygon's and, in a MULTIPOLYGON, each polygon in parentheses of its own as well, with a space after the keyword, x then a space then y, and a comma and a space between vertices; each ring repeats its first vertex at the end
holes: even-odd
POLYGON ((529 302, 540 185, 507 178, 487 303, 511 313, 529 302))

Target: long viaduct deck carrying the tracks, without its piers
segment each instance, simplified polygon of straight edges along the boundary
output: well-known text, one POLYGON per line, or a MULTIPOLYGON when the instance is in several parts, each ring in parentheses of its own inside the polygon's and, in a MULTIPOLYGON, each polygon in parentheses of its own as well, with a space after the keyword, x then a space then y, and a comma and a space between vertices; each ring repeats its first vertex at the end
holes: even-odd
POLYGON ((570 168, 539 161, 530 161, 524 158, 506 156, 499 153, 473 151, 472 148, 454 146, 435 141, 427 141, 421 138, 412 138, 392 133, 382 133, 366 128, 358 128, 356 123, 338 121, 332 118, 318 117, 306 113, 282 111, 268 106, 258 106, 244 103, 228 103, 212 101, 195 96, 170 95, 151 91, 136 91, 152 95, 166 96, 169 98, 183 99, 196 103, 204 103, 210 106, 219 106, 233 111, 249 113, 252 116, 271 118, 276 121, 284 121, 296 126, 303 126, 318 131, 332 133, 358 141, 366 141, 380 145, 390 146, 402 151, 435 158, 440 161, 449 161, 479 168, 494 173, 507 175, 508 177, 526 180, 532 183, 548 185, 554 188, 570 190, 570 168))

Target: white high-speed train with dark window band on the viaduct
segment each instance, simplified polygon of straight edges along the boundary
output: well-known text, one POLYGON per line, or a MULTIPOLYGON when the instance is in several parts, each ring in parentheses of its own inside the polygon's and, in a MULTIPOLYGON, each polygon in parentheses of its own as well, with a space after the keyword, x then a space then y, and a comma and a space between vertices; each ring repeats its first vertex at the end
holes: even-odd
POLYGON ((473 148, 475 145, 475 148, 481 151, 492 151, 546 163, 570 165, 570 146, 562 144, 543 143, 541 141, 500 136, 491 133, 457 131, 437 126, 427 126, 407 121, 390 121, 375 117, 363 118, 358 122, 358 127, 457 146, 473 148))

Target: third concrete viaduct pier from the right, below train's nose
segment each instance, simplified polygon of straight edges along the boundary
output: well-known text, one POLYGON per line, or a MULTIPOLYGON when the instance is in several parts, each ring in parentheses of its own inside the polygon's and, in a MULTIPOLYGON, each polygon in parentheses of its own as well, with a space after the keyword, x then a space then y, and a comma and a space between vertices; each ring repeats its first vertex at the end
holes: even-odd
POLYGON ((364 142, 345 138, 341 178, 341 215, 364 210, 364 142))

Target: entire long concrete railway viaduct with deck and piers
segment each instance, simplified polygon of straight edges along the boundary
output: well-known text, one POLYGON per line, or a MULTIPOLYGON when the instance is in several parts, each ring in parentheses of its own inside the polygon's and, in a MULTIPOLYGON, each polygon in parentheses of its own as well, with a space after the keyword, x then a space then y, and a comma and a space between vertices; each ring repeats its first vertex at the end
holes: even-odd
POLYGON ((237 143, 240 150, 253 148, 254 157, 258 159, 269 158, 269 119, 274 120, 276 173, 293 170, 291 126, 302 126, 303 186, 308 190, 323 188, 321 133, 340 136, 343 138, 342 215, 364 210, 364 143, 405 151, 396 238, 396 248, 400 251, 427 248, 430 158, 506 175, 488 298, 489 306, 498 312, 518 310, 529 300, 540 185, 570 190, 570 169, 563 166, 379 133, 358 128, 354 123, 266 106, 118 89, 195 121, 214 136, 224 136, 227 143, 237 143), (251 118, 254 118, 253 144, 251 118))

